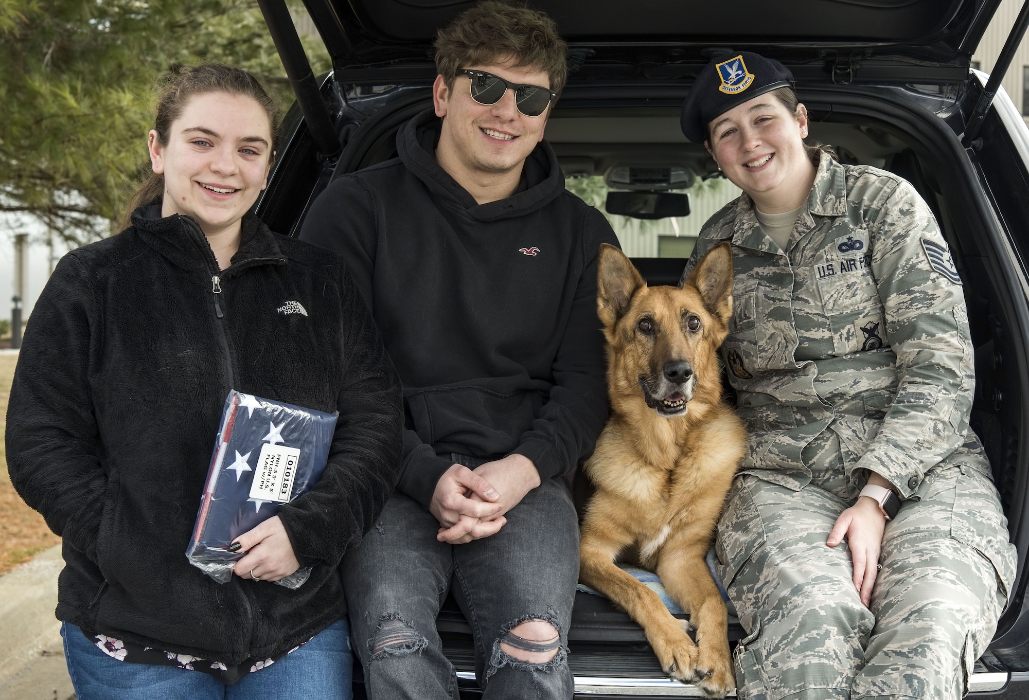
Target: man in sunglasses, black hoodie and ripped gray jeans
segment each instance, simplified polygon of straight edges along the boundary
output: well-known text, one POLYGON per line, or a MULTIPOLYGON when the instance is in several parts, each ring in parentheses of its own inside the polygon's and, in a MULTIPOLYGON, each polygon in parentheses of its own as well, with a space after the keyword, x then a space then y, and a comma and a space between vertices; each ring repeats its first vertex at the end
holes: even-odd
POLYGON ((456 700, 435 627, 451 591, 484 697, 568 699, 568 475, 607 418, 597 254, 617 240, 543 141, 567 74, 555 23, 484 2, 435 46, 399 157, 333 181, 300 235, 347 257, 404 387, 399 484, 342 564, 354 649, 369 698, 456 700))

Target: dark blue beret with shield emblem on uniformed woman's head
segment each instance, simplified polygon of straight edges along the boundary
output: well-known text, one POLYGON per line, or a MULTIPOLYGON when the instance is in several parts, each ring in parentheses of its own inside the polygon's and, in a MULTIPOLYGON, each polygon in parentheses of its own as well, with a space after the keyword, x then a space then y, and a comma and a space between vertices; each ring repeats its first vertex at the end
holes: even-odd
POLYGON ((682 103, 682 133, 694 143, 704 143, 711 119, 758 95, 789 87, 792 80, 784 65, 752 51, 714 59, 698 73, 682 103))

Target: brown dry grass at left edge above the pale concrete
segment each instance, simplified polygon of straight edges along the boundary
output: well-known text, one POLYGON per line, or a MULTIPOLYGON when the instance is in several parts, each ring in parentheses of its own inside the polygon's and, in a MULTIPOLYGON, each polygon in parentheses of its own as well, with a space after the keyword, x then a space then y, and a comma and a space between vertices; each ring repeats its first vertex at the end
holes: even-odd
MULTIPOLYGON (((0 436, 6 427, 7 396, 17 355, 0 354, 0 436)), ((7 475, 7 460, 0 440, 0 574, 54 547, 61 538, 49 531, 43 517, 25 504, 7 475)))

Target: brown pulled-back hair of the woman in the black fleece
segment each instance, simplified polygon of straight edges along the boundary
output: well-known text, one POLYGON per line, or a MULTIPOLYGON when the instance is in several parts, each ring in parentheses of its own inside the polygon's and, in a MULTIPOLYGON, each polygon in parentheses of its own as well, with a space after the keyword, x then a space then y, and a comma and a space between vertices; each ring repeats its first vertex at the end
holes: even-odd
MULTIPOLYGON (((278 103, 261 87, 251 73, 220 63, 205 63, 196 68, 182 67, 172 72, 157 98, 157 114, 153 121, 153 130, 157 132, 157 143, 168 145, 168 137, 172 124, 185 109, 189 100, 198 95, 209 93, 228 93, 249 97, 259 104, 268 114, 272 127, 272 148, 269 163, 275 160, 277 137, 281 110, 278 103)), ((165 194, 165 176, 154 173, 150 164, 140 166, 140 185, 129 198, 129 204, 121 215, 118 231, 125 231, 132 225, 132 213, 144 204, 159 199, 165 194), (149 174, 147 174, 149 173, 149 174)))

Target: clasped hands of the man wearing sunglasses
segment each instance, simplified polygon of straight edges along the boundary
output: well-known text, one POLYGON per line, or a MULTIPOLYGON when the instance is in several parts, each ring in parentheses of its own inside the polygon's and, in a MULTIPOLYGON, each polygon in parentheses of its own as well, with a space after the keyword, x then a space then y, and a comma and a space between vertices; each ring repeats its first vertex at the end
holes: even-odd
POLYGON ((436 539, 464 545, 500 531, 504 514, 539 486, 539 471, 528 457, 507 455, 475 469, 452 464, 436 482, 429 513, 439 522, 436 539))

